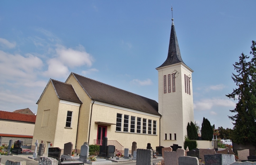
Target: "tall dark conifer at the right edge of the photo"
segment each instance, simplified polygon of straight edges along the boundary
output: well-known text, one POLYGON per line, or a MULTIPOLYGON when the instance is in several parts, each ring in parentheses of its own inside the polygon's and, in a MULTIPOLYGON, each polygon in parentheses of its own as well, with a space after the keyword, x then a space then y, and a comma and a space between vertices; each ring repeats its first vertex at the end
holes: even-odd
POLYGON ((228 98, 238 100, 236 107, 230 112, 236 113, 229 116, 234 121, 232 140, 235 143, 251 142, 256 145, 256 42, 252 41, 249 56, 241 54, 239 62, 233 66, 237 74, 232 73, 232 79, 237 88, 233 89, 228 98))

